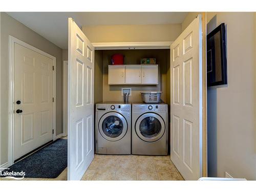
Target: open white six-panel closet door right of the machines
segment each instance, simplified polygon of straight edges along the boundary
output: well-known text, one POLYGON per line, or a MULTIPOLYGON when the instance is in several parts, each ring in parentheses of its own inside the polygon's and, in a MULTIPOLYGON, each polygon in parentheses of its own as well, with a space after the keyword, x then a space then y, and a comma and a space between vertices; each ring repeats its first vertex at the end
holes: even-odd
POLYGON ((202 177, 202 17, 170 46, 170 158, 185 180, 202 177))

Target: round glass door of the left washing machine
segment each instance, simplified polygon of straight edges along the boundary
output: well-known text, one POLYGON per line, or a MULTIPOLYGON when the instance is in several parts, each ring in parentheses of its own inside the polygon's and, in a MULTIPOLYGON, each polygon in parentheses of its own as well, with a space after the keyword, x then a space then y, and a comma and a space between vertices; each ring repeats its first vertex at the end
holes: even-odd
POLYGON ((100 118, 98 130, 106 140, 118 141, 127 132, 127 121, 121 114, 109 112, 100 118))

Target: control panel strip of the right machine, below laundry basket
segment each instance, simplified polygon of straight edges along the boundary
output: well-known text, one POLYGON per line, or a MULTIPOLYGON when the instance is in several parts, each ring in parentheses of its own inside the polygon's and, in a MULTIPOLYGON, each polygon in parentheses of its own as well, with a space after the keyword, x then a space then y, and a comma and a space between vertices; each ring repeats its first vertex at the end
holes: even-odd
POLYGON ((133 112, 158 112, 158 113, 166 113, 168 112, 167 104, 133 104, 132 106, 133 112))

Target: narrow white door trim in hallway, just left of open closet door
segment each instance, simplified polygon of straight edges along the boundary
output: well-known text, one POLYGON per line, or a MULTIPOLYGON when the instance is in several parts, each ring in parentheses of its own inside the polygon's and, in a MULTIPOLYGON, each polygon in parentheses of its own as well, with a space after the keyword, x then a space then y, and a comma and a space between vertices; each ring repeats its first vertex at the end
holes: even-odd
POLYGON ((63 108, 62 108, 62 137, 66 137, 68 135, 68 94, 66 95, 65 92, 68 93, 68 60, 63 60, 63 71, 62 71, 62 102, 63 102, 63 108), (67 75, 66 75, 67 73, 67 75), (67 84, 65 82, 67 81, 67 84), (67 114, 67 118, 65 118, 65 114, 67 114))

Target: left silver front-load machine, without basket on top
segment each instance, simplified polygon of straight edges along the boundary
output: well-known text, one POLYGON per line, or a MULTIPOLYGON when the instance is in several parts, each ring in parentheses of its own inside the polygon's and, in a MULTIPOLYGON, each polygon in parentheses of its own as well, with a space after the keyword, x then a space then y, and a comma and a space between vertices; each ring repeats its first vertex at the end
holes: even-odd
POLYGON ((131 104, 96 104, 95 137, 97 154, 131 154, 131 104))

